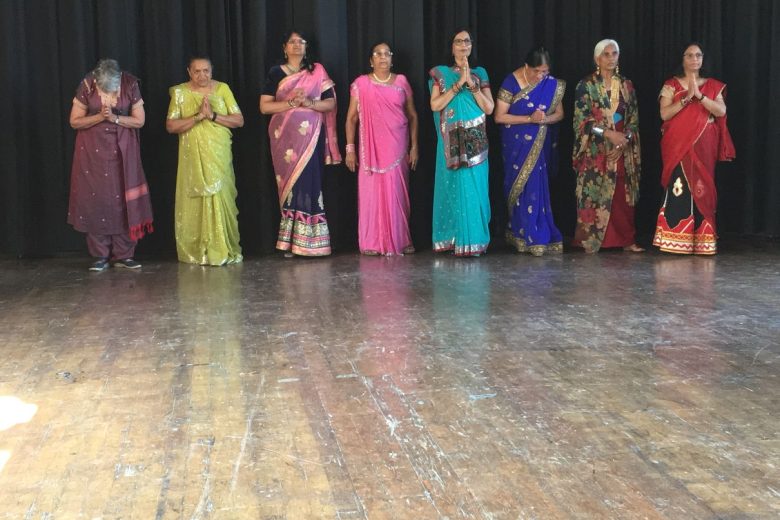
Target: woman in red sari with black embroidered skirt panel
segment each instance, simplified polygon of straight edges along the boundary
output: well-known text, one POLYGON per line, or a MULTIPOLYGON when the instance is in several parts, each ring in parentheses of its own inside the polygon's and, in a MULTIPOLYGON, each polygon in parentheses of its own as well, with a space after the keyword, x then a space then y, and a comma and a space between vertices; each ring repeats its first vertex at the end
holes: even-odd
POLYGON ((681 73, 664 83, 658 97, 666 197, 653 245, 669 253, 717 252, 715 163, 735 156, 726 127, 726 85, 701 77, 703 59, 698 43, 688 45, 681 73))

